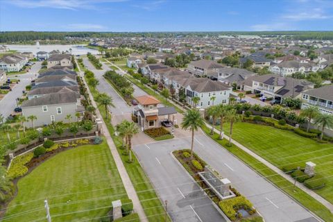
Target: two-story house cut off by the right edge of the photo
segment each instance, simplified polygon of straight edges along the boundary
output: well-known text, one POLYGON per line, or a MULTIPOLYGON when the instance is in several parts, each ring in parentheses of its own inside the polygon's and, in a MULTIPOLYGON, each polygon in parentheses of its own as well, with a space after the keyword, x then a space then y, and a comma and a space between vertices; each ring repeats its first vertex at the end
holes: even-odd
POLYGON ((302 92, 302 109, 317 105, 325 114, 333 114, 333 85, 325 85, 302 92))

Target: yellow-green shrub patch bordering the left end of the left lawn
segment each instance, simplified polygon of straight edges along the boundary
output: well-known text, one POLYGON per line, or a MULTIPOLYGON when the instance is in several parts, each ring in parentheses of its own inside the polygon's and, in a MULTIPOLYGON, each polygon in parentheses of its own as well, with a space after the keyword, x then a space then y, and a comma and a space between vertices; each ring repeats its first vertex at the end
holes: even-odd
POLYGON ((28 172, 28 167, 24 166, 30 160, 33 159, 33 153, 27 153, 25 155, 20 155, 15 157, 10 164, 10 168, 8 169, 8 177, 15 179, 20 176, 24 176, 28 172))

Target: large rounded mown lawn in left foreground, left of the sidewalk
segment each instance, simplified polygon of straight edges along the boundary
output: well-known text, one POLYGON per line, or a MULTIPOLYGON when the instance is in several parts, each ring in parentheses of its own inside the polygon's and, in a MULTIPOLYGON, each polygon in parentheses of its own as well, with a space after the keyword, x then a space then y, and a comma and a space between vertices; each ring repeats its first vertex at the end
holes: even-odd
POLYGON ((112 200, 127 198, 106 142, 59 153, 17 185, 18 195, 8 206, 8 218, 2 221, 44 221, 44 198, 49 200, 52 221, 105 216, 112 200))

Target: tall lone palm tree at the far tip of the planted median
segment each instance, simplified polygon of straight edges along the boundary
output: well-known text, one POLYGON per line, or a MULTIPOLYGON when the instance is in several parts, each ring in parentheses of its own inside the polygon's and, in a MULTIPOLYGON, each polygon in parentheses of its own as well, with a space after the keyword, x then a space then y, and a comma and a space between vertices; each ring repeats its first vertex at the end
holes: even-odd
POLYGON ((194 143, 194 131, 198 131, 198 128, 205 124, 203 117, 201 117, 199 110, 191 109, 186 112, 182 119, 182 129, 191 130, 191 159, 193 158, 193 143, 194 143))

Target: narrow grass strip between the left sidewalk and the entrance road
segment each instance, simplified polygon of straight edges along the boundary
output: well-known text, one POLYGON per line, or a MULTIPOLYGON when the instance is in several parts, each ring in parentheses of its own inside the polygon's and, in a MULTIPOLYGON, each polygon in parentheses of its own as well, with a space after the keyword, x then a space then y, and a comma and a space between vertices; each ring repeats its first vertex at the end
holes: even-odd
MULTIPOLYGON (((90 92, 92 92, 93 96, 97 96, 97 92, 92 90, 92 87, 89 86, 90 92)), ((105 119, 105 110, 103 108, 99 108, 103 120, 108 126, 108 130, 110 135, 114 141, 114 144, 117 146, 117 150, 123 161, 123 165, 126 168, 128 176, 130 176, 130 180, 133 183, 135 191, 137 191, 137 196, 144 208, 144 212, 148 217, 148 221, 155 222, 155 221, 164 221, 164 206, 162 205, 160 198, 158 198, 157 194, 155 193, 155 189, 149 182, 149 178, 144 173, 139 161, 133 154, 133 162, 128 163, 128 155, 125 154, 125 150, 121 148, 122 140, 120 137, 114 135, 114 128, 110 123, 110 119, 105 119)), ((169 221, 169 218, 168 218, 169 221)))

